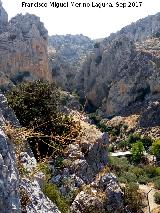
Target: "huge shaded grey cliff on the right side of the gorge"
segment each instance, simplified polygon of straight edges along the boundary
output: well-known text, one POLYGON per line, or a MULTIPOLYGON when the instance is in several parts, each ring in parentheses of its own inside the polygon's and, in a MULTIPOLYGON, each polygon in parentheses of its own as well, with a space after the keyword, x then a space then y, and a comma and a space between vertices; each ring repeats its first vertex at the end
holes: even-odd
POLYGON ((160 13, 95 45, 79 75, 87 109, 113 116, 160 98, 160 13))

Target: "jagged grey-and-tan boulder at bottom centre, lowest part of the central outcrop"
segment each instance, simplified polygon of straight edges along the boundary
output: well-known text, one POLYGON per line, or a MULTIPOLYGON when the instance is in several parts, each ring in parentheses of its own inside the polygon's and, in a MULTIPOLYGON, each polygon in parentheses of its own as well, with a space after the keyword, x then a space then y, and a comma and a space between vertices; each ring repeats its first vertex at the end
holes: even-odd
POLYGON ((91 183, 90 190, 81 191, 71 205, 71 213, 125 213, 122 192, 116 177, 106 173, 91 183), (105 202, 103 202, 106 196, 105 202))

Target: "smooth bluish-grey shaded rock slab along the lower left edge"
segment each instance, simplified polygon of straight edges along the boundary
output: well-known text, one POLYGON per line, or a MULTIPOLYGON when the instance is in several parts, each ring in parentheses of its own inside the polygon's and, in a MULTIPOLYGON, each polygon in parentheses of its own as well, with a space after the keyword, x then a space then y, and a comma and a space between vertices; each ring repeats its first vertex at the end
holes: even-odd
POLYGON ((2 129, 0 144, 0 212, 20 213, 19 179, 15 154, 2 129))

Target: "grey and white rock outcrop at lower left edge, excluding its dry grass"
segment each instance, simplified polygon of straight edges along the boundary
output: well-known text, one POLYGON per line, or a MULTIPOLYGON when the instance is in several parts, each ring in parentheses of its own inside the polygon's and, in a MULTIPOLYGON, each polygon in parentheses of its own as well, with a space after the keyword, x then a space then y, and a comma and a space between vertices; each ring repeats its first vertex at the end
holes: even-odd
MULTIPOLYGON (((3 130, 3 126, 8 122, 15 127, 20 127, 5 97, 0 94, 0 212, 60 213, 58 208, 43 194, 38 177, 32 181, 27 177, 20 177, 15 145, 3 130), (22 200, 25 203, 25 209, 22 200)), ((24 152, 21 153, 21 165, 29 171, 36 166, 36 160, 24 152)))

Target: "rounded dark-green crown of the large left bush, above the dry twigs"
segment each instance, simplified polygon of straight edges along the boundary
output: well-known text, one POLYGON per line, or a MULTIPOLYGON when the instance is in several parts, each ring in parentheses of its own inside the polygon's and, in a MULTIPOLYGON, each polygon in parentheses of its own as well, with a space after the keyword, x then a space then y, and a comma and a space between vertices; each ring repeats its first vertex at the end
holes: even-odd
POLYGON ((25 127, 57 118, 60 94, 54 83, 35 81, 19 84, 7 93, 9 105, 25 127))

